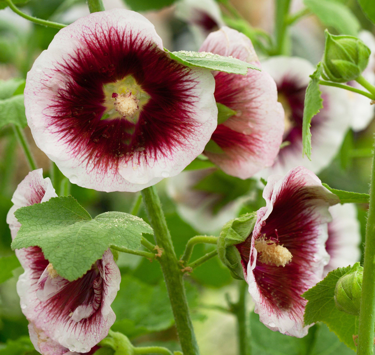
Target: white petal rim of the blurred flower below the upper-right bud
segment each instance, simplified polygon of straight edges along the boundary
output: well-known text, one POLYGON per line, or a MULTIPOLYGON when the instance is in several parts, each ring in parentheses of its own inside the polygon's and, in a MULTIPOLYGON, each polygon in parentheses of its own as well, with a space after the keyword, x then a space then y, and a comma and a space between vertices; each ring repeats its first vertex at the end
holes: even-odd
MULTIPOLYGON (((284 78, 307 86, 309 75, 315 68, 306 59, 299 57, 275 56, 262 62, 262 67, 281 85, 284 78)), ((296 166, 304 166, 315 174, 326 168, 337 155, 345 134, 352 120, 352 93, 347 90, 321 86, 324 108, 320 111, 321 123, 313 127, 312 133, 312 156, 311 161, 302 157, 302 136, 299 142, 293 146, 283 148, 274 165, 259 173, 262 178, 270 175, 285 175, 296 166), (282 157, 282 158, 281 158, 282 157)))

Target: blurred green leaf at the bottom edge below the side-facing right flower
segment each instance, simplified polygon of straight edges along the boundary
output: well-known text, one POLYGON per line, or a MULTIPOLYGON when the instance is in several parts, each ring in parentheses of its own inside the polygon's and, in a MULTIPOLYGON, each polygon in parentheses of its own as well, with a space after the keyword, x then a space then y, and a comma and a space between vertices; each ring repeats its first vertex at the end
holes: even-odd
POLYGON ((251 348, 256 355, 354 355, 339 341, 325 324, 309 329, 304 338, 290 337, 273 332, 259 322, 259 316, 250 314, 251 348))

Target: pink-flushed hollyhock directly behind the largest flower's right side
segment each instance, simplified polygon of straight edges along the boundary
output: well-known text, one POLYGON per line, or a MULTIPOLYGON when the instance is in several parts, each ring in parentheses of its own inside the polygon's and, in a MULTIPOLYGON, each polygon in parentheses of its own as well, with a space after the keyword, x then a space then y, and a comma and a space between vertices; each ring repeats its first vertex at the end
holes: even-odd
MULTIPOLYGON (((200 51, 231 55, 260 67, 251 41, 228 27, 210 33, 200 51)), ((282 142, 284 111, 275 82, 266 71, 251 69, 246 76, 215 72, 214 77, 216 102, 236 114, 219 124, 211 137, 222 153, 204 154, 226 174, 250 178, 273 164, 282 142)))

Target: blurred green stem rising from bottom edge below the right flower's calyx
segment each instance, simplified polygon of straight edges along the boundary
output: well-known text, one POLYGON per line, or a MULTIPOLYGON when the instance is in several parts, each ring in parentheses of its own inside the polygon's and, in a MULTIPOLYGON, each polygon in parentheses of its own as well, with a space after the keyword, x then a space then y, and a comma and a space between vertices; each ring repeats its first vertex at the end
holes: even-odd
POLYGON ((248 314, 246 309, 247 283, 240 281, 238 285, 238 301, 232 304, 232 312, 237 318, 237 339, 239 355, 250 355, 250 336, 248 314))

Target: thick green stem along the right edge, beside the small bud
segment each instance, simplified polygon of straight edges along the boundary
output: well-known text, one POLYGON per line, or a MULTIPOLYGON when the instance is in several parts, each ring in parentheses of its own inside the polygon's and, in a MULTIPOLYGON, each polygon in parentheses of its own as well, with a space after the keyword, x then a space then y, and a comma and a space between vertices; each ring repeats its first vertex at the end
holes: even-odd
MULTIPOLYGON (((375 150, 374 150, 375 157, 375 150)), ((366 225, 365 261, 361 294, 357 355, 374 354, 375 325, 375 159, 370 185, 370 205, 366 225)))

